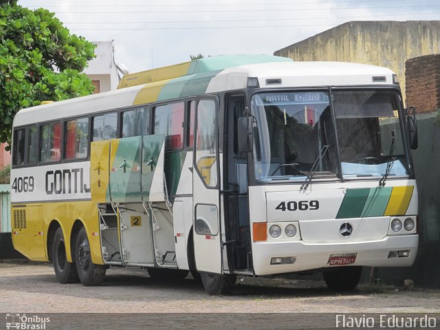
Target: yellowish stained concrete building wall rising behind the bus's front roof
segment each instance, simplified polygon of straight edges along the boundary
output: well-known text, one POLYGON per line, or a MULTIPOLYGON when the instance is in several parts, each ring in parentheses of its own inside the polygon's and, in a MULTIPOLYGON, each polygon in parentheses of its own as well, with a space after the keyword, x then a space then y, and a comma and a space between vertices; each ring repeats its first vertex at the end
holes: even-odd
POLYGON ((380 65, 399 77, 405 94, 408 58, 440 53, 440 21, 353 21, 274 52, 295 61, 380 65))

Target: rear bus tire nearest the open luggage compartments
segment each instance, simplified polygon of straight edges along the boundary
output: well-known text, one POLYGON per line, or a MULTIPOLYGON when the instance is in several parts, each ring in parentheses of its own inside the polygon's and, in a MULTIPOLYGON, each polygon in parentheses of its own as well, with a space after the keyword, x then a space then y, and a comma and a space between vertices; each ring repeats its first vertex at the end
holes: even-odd
POLYGON ((84 227, 78 232, 75 245, 76 270, 81 283, 85 287, 101 285, 107 267, 91 262, 90 244, 84 227))

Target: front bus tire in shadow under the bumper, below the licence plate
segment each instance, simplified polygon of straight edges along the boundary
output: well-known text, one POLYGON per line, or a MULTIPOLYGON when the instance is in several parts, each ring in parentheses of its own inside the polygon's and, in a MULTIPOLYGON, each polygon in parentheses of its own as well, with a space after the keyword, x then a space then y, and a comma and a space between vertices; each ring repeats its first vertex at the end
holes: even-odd
POLYGON ((325 283, 331 290, 353 291, 359 283, 362 267, 343 267, 333 272, 323 272, 325 283))

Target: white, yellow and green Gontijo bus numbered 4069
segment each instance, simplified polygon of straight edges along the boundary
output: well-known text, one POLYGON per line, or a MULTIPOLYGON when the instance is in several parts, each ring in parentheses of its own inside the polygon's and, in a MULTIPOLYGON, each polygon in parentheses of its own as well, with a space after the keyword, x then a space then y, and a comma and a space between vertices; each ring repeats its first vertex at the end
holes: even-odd
POLYGON ((417 254, 415 111, 371 65, 215 56, 14 118, 14 247, 60 283, 111 266, 201 278, 323 272, 417 254))

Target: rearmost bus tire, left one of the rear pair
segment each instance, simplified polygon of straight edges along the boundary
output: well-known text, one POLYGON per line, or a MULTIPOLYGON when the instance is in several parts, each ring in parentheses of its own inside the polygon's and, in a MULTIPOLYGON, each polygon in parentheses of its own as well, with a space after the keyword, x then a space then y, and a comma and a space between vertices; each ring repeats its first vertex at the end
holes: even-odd
POLYGON ((54 262, 55 276, 59 283, 78 283, 76 265, 67 261, 66 244, 61 227, 56 230, 52 241, 52 261, 54 262))

